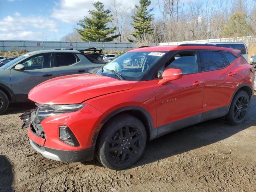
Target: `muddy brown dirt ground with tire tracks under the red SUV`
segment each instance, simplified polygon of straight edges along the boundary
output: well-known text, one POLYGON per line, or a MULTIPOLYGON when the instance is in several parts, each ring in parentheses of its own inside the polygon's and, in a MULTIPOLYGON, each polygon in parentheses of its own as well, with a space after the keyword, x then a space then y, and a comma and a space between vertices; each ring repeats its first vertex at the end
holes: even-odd
POLYGON ((18 119, 32 107, 13 104, 0 116, 0 191, 256 191, 256 96, 242 125, 219 118, 167 134, 148 142, 142 158, 123 171, 35 152, 18 119))

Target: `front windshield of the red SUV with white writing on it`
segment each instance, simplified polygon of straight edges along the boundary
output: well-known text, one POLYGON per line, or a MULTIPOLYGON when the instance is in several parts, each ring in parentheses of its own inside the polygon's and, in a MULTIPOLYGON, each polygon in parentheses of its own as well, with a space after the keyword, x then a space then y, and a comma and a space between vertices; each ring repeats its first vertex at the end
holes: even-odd
POLYGON ((138 81, 166 52, 126 52, 108 64, 96 74, 138 81))

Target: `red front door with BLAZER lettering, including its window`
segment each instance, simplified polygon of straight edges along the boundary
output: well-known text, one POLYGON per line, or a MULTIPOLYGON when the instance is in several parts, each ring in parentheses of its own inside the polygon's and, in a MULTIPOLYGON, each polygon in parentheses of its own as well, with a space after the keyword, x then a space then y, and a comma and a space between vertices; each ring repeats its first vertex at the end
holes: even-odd
MULTIPOLYGON (((200 122, 204 80, 196 51, 180 51, 165 64, 164 69, 182 70, 181 79, 159 85, 154 80, 158 135, 200 122), (161 129, 162 128, 162 129, 161 129)), ((158 75, 161 75, 161 70, 158 75)), ((159 77, 159 76, 158 76, 159 77)))

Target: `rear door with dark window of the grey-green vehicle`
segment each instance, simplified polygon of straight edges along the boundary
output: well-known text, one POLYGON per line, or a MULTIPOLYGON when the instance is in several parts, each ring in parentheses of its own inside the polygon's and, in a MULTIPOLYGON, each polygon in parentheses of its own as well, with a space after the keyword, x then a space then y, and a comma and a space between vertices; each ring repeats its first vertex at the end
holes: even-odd
POLYGON ((86 65, 76 54, 54 53, 54 77, 86 72, 86 65))

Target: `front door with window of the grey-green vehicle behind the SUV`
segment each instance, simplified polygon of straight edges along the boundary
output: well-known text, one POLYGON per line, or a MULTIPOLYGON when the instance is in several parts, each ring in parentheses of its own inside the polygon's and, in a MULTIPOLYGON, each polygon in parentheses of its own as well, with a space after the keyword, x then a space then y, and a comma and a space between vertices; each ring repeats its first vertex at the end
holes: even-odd
POLYGON ((17 101, 28 100, 28 92, 36 85, 54 77, 52 54, 37 54, 20 62, 25 70, 11 70, 12 91, 17 101))

